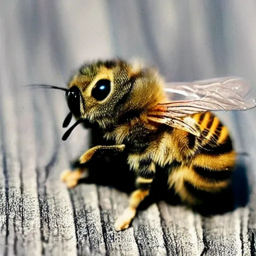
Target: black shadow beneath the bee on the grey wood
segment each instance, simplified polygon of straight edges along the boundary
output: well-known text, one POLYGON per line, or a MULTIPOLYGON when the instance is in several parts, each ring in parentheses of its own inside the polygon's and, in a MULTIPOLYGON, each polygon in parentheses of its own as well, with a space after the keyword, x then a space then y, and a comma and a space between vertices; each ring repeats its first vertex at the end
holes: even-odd
MULTIPOLYGON (((102 139, 99 131, 91 132, 91 146, 99 144, 111 144, 102 139)), ((194 211, 202 215, 221 214, 231 211, 236 207, 245 206, 248 202, 248 180, 246 161, 248 156, 238 155, 236 165, 232 175, 231 185, 219 193, 202 192, 193 189, 193 194, 200 198, 203 203, 192 207, 194 211)), ((126 162, 126 155, 101 155, 95 157, 89 165, 89 177, 81 179, 79 183, 95 183, 98 185, 111 186, 120 191, 130 193, 134 190, 134 173, 129 170, 126 162)), ((77 161, 73 162, 73 167, 82 166, 77 161)), ((156 177, 152 183, 150 195, 139 205, 139 209, 148 207, 153 202, 164 200, 171 205, 181 204, 178 195, 172 189, 168 189, 166 180, 167 170, 156 169, 156 177)))

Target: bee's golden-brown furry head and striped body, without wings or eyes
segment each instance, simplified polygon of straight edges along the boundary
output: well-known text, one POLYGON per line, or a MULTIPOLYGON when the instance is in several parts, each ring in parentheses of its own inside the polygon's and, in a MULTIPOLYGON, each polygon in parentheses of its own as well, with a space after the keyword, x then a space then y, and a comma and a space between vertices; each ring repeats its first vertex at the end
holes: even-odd
MULTIPOLYGON (((231 168, 235 159, 234 152, 228 147, 228 131, 217 117, 210 112, 186 117, 196 126, 200 122, 197 137, 177 127, 160 124, 159 118, 149 119, 148 113, 157 110, 155 106, 158 103, 166 102, 163 81, 154 69, 118 59, 98 61, 83 65, 70 79, 68 86, 77 86, 80 91, 79 118, 98 125, 104 137, 113 141, 116 147, 125 145, 127 163, 137 174, 138 185, 150 185, 153 180, 151 176, 143 176, 144 169, 153 176, 155 165, 165 167, 173 162, 177 165, 169 169, 166 183, 189 204, 198 200, 186 189, 185 182, 201 190, 215 192, 228 185, 228 177, 214 177, 231 168), (111 84, 109 94, 102 100, 96 100, 91 95, 99 79, 108 79, 111 84)), ((81 156, 81 163, 88 161, 103 147, 89 149, 81 156)), ((128 227, 134 210, 148 193, 149 187, 137 189, 131 194, 129 207, 117 220, 116 230, 128 227)))

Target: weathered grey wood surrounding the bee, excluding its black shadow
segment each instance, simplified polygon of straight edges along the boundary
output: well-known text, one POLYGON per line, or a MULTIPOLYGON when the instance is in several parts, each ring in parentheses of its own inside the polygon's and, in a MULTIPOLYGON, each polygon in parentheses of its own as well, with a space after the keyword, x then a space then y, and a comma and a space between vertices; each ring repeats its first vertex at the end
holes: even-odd
MULTIPOLYGON (((256 89, 255 26, 254 0, 1 0, 0 255, 253 251, 253 201, 210 219, 154 204, 133 227, 115 233, 112 224, 127 195, 93 184, 67 191, 59 173, 86 149, 87 132, 77 127, 62 142, 64 94, 23 85, 65 86, 83 61, 119 56, 142 58, 167 81, 238 75, 256 89)), ((236 149, 254 156, 255 111, 220 116, 236 149)), ((250 170, 253 183, 254 164, 250 170)))

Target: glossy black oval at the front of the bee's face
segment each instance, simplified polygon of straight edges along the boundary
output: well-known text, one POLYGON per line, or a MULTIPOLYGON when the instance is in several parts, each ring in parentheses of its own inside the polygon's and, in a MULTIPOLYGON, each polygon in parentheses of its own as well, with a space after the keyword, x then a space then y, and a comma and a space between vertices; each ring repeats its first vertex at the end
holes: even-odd
POLYGON ((72 86, 66 92, 67 105, 75 116, 80 116, 80 90, 76 86, 72 86))

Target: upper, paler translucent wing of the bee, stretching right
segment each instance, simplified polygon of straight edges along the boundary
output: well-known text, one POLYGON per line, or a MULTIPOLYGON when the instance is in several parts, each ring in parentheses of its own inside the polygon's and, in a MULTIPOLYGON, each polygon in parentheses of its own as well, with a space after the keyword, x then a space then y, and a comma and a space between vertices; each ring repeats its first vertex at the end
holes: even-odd
POLYGON ((246 110, 256 106, 249 86, 240 77, 219 77, 193 82, 166 83, 170 102, 159 104, 174 116, 217 110, 246 110))

